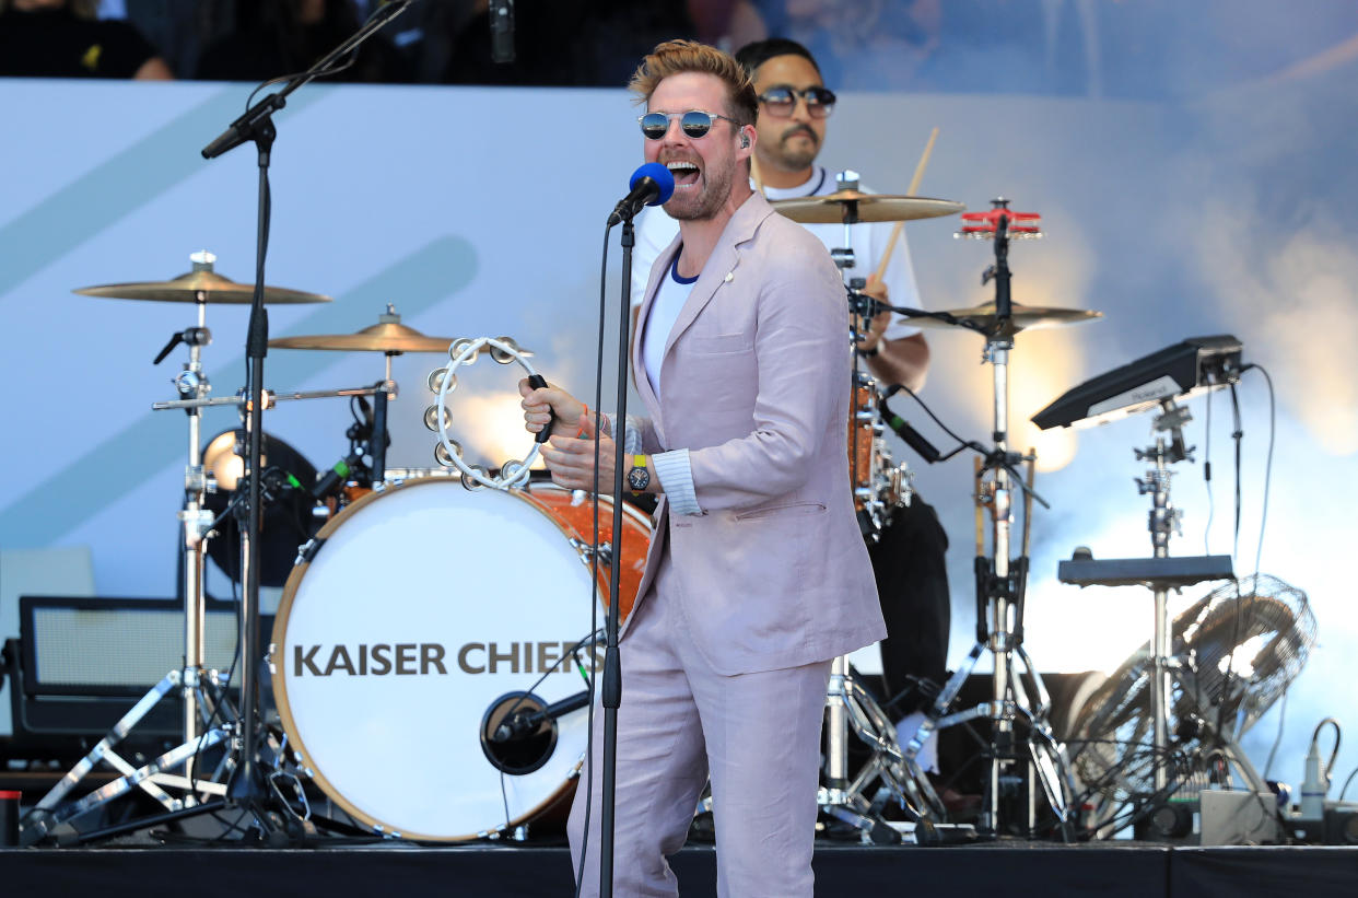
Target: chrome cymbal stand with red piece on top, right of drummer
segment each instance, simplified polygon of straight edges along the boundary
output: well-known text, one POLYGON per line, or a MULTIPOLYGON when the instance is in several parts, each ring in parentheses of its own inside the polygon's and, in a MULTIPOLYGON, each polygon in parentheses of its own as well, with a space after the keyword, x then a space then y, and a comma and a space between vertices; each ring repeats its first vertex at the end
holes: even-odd
MULTIPOLYGON (((993 368, 994 397, 994 448, 976 467, 976 643, 957 671, 948 679, 928 711, 925 721, 904 747, 904 755, 914 759, 925 740, 936 730, 968 720, 989 717, 990 772, 983 793, 980 831, 998 837, 1001 831, 1001 807, 1010 787, 1023 781, 1019 765, 1027 761, 1028 802, 1027 831, 1032 833, 1038 819, 1036 789, 1040 787, 1046 803, 1057 818, 1058 829, 1065 838, 1073 838, 1074 814, 1071 807, 1074 788, 1069 773, 1070 765, 1065 749, 1059 744, 1047 723, 1050 697, 1042 675, 1038 672, 1027 651, 1023 648, 1024 592, 1028 576, 1028 518, 1032 500, 1040 497, 1032 492, 1016 471, 1020 462, 1028 465, 1028 481, 1032 478, 1035 456, 1009 451, 1009 352, 1013 349, 1016 329, 1012 322, 1013 303, 1009 295, 1009 240, 1012 236, 1036 236, 1031 226, 1023 231, 1009 231, 1012 215, 1008 200, 995 200, 994 209, 986 216, 990 227, 970 230, 968 236, 994 239, 995 264, 982 276, 982 283, 995 281, 995 323, 986 334, 983 360, 993 368), (1010 558, 1013 505, 1012 488, 1017 486, 1025 495, 1024 538, 1017 558, 1010 558), (990 508, 990 556, 985 552, 983 507, 990 508), (991 700, 968 711, 948 713, 961 690, 963 682, 971 675, 982 653, 993 659, 991 700), (1020 668, 1017 662, 1021 662, 1020 668), (1025 686, 1023 671, 1027 671, 1029 686, 1025 686), (1027 723, 1027 751, 1020 754, 1016 743, 1014 724, 1023 719, 1027 723), (1033 781, 1036 780, 1036 781, 1033 781)), ((1023 215, 1025 221, 1035 216, 1023 215)), ((1042 503, 1046 505, 1046 503, 1042 503)))

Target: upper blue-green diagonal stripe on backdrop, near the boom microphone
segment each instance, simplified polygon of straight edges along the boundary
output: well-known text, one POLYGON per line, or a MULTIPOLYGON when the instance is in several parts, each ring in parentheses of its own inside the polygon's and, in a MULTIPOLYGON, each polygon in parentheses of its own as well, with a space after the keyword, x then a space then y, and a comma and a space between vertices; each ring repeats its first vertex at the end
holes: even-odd
MULTIPOLYGON (((300 90, 288 98, 287 113, 292 114, 326 95, 323 88, 300 90)), ((0 296, 72 246, 79 246, 185 178, 202 171, 210 163, 198 151, 243 109, 240 86, 216 94, 0 227, 0 246, 5 250, 5 265, 0 268, 0 296)), ((235 152, 253 154, 254 147, 238 147, 235 152)))

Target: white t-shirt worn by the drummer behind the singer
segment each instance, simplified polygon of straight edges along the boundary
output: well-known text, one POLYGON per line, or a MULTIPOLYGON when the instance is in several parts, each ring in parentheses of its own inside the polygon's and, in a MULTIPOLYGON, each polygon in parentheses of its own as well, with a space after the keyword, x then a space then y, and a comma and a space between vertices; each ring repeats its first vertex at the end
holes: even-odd
MULTIPOLYGON (((816 166, 805 183, 786 190, 766 186, 765 196, 769 200, 820 197, 834 193, 835 186, 834 174, 823 166, 816 166)), ((872 193, 872 190, 862 185, 858 189, 864 193, 872 193)), ((801 227, 815 234, 826 245, 827 250, 843 246, 845 226, 842 224, 803 224, 801 227)), ((849 269, 850 277, 866 279, 877 270, 877 262, 887 251, 887 242, 891 239, 894 227, 894 221, 860 223, 850 227, 849 232, 856 262, 849 269)), ((679 223, 669 217, 664 206, 650 206, 637 217, 637 245, 631 255, 633 307, 641 304, 641 299, 646 292, 646 281, 650 279, 650 268, 655 265, 656 258, 675 239, 676 234, 679 234, 679 223)), ((919 302, 919 288, 915 285, 915 270, 910 262, 910 245, 906 243, 904 232, 902 232, 899 239, 902 246, 898 246, 896 251, 892 253, 891 262, 887 265, 887 272, 883 276, 883 281, 887 284, 887 302, 892 306, 923 308, 923 304, 919 302)), ((668 331, 665 333, 668 334, 668 331)), ((887 326, 885 338, 900 340, 917 333, 919 333, 919 329, 911 325, 904 315, 894 314, 891 323, 887 326)))

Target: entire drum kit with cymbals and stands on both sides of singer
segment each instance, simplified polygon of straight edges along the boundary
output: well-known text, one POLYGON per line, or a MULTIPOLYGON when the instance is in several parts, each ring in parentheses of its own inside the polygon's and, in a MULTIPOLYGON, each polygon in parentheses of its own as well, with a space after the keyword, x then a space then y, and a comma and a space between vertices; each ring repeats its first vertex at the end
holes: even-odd
MULTIPOLYGON (((857 175, 841 175, 828 196, 779 201, 785 216, 805 223, 906 221, 953 215, 959 202, 858 192, 857 175)), ((1012 213, 1004 201, 982 216, 968 216, 968 236, 995 242, 997 300, 949 312, 900 310, 922 326, 968 327, 986 337, 994 367, 994 447, 978 466, 978 537, 982 509, 991 519, 990 552, 978 543, 978 643, 967 664, 938 693, 925 723, 902 744, 895 727, 849 666, 835 659, 827 693, 827 751, 818 802, 826 815, 861 831, 864 841, 900 841, 899 825, 885 823, 888 803, 904 808, 921 834, 949 826, 947 811, 917 757, 937 728, 989 717, 993 739, 990 789, 979 830, 999 833, 1006 822, 1009 784, 1027 766, 1028 816, 1039 799, 1069 830, 1070 774, 1062 746, 1047 723, 1040 677, 1023 649, 1023 583, 1027 572, 1027 515, 1023 552, 1010 558, 1012 501, 1019 488, 1031 507, 1032 455, 1008 450, 1008 353, 1021 330, 1076 323, 1097 312, 1023 307, 1009 302, 1008 242, 1035 236, 1033 219, 1012 213), (1010 226, 1013 226, 1010 228, 1010 226), (1027 462, 1028 484, 1016 466, 1027 462), (956 711, 957 692, 982 653, 994 660, 994 696, 983 705, 956 711), (1027 674, 1020 677, 1019 664, 1027 674), (1016 723, 1025 739, 1016 738, 1016 723), (870 758, 856 776, 849 766, 849 734, 870 758), (1020 744, 1020 742, 1023 744, 1020 744), (1033 799, 1033 795, 1039 799, 1033 799)), ((853 277, 851 250, 832 253, 849 296, 849 337, 857 344, 881 311, 853 277)), ((585 754, 584 708, 589 681, 600 666, 598 633, 581 633, 579 592, 598 586, 608 595, 608 568, 621 567, 621 610, 630 611, 640 586, 650 519, 625 507, 619 550, 610 545, 611 503, 600 497, 598 516, 583 492, 569 492, 530 471, 536 444, 523 459, 497 470, 469 465, 452 439, 445 406, 456 389, 455 371, 489 355, 517 361, 538 378, 528 351, 508 337, 429 337, 401 323, 388 307, 373 326, 348 334, 284 337, 269 346, 293 351, 379 352, 384 376, 372 386, 310 393, 265 391, 265 408, 292 399, 349 398, 361 413, 348 431, 349 452, 316 471, 289 446, 265 435, 261 484, 266 514, 261 539, 263 581, 281 584, 282 598, 268 645, 268 668, 277 719, 240 720, 232 704, 234 671, 204 667, 205 564, 213 557, 228 576, 240 550, 242 440, 228 431, 202 444, 202 409, 242 408, 244 397, 210 397, 202 349, 210 344, 206 306, 249 303, 253 285, 213 270, 213 257, 194 254, 193 270, 168 281, 110 284, 76 292, 90 296, 193 303, 197 323, 174 334, 156 361, 179 344, 189 360, 175 378, 178 399, 158 410, 181 409, 189 421, 185 503, 178 512, 185 594, 185 666, 170 671, 110 735, 52 789, 24 821, 22 840, 35 844, 95 807, 141 789, 164 806, 164 819, 224 806, 238 766, 243 727, 259 725, 259 754, 268 783, 292 818, 289 831, 319 826, 383 837, 458 842, 512 837, 559 811, 573 792, 585 754), (436 402, 424 420, 439 433, 436 467, 386 466, 387 405, 398 393, 392 356, 448 353, 430 372, 436 402), (485 489, 489 486, 490 489, 485 489), (599 528, 596 530, 596 522, 599 528), (300 545, 300 547, 299 547, 300 545), (593 565, 598 556, 598 564, 593 565), (531 564, 524 564, 526 557, 531 564), (591 583, 593 580, 593 583, 591 583), (554 584, 545 590, 542 584, 554 584), (572 596, 572 598, 565 598, 572 596), (117 742, 163 696, 185 697, 183 743, 149 764, 134 766, 117 754, 117 742), (437 708, 437 713, 430 709, 437 708), (86 797, 67 796, 98 764, 122 776, 86 797), (215 764, 215 766, 213 766, 215 764), (177 773, 178 770, 178 773, 177 773), (312 814, 301 781, 319 788, 333 808, 356 826, 312 814), (175 789, 177 796, 166 789, 175 789), (216 797, 208 797, 216 796, 216 797)), ((327 296, 266 287, 265 303, 320 303, 327 296)), ((888 307, 889 308, 889 307, 888 307)), ((911 499, 911 474, 892 461, 884 440, 883 390, 854 361, 847 451, 856 508, 865 539, 875 539, 895 509, 911 499)), ((249 659, 247 662, 249 663, 249 659)), ((257 731, 258 732, 258 731, 257 731)), ((141 829, 129 823, 118 831, 141 829)), ((102 830, 100 836, 111 834, 102 830)), ((90 836, 80 836, 90 841, 90 836)))

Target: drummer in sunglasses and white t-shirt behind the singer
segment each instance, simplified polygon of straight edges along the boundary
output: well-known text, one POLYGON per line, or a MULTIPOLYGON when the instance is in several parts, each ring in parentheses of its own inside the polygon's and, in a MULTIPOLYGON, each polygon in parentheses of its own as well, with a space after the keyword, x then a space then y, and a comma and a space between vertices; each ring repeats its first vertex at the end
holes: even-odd
MULTIPOLYGON (((770 38, 748 43, 736 53, 754 80, 759 98, 755 121, 756 178, 769 200, 824 196, 837 189, 835 175, 816 163, 835 106, 834 91, 826 88, 820 68, 807 48, 796 41, 770 38)), ((860 190, 866 192, 861 185, 860 190)), ((843 246, 842 224, 807 224, 827 249, 843 246)), ((891 254, 881 280, 875 277, 887 253, 894 223, 860 223, 850 228, 856 265, 868 279, 864 292, 875 299, 919 308, 919 289, 904 234, 891 254)), ((631 268, 633 314, 645 295, 652 262, 669 245, 679 226, 660 206, 648 208, 637 224, 637 246, 631 268)), ((847 323, 847 322, 846 322, 847 323)), ((929 370, 929 344, 918 327, 903 315, 883 312, 872 321, 858 341, 868 370, 881 384, 899 383, 919 390, 929 370)), ((951 605, 944 553, 948 537, 934 509, 918 496, 892 519, 869 547, 887 619, 881 643, 883 675, 888 697, 906 690, 911 678, 947 681, 951 605)), ((925 704, 913 696, 894 708, 902 742, 914 735, 925 704)), ((937 772, 937 739, 919 755, 926 770, 937 772)), ((952 796, 945 795, 949 804, 952 796)))

